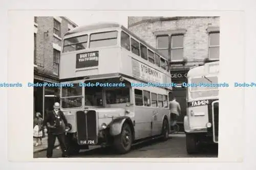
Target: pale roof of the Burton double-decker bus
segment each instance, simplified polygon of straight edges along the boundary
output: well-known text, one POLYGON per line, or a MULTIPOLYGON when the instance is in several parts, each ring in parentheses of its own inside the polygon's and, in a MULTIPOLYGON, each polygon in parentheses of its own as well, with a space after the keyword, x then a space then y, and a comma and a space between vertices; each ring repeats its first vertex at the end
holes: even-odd
POLYGON ((105 28, 121 28, 122 30, 124 30, 125 32, 129 33, 130 35, 132 35, 133 37, 135 37, 136 39, 138 39, 140 42, 142 42, 144 45, 148 46, 149 48, 151 48, 151 50, 153 50, 155 53, 159 54, 160 56, 162 56, 163 58, 167 59, 162 53, 160 53, 155 47, 151 46, 150 44, 146 43, 143 39, 141 39, 140 37, 138 37, 137 35, 135 35, 134 33, 132 33, 129 29, 125 28, 124 26, 120 25, 117 22, 98 22, 92 25, 86 25, 86 26, 78 26, 70 31, 68 31, 67 33, 64 34, 64 36, 66 35, 71 35, 71 34, 76 34, 79 32, 83 32, 83 31, 91 31, 91 30, 98 30, 98 29, 105 29, 105 28))

